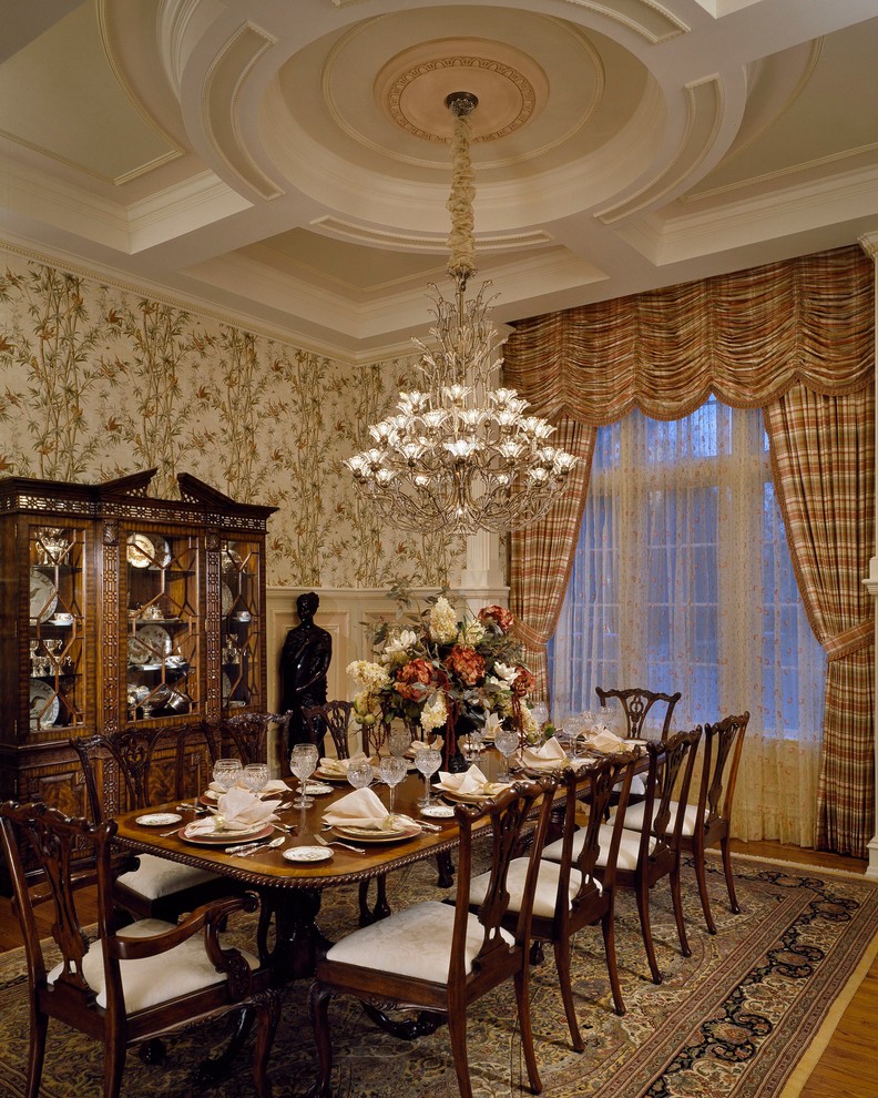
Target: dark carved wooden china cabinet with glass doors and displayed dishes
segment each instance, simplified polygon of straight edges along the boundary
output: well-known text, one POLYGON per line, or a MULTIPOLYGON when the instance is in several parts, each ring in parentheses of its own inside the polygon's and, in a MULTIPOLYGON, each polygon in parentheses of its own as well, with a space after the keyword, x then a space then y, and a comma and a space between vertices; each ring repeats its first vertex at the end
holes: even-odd
POLYGON ((88 814, 71 738, 265 709, 275 508, 154 472, 0 480, 0 800, 88 814))

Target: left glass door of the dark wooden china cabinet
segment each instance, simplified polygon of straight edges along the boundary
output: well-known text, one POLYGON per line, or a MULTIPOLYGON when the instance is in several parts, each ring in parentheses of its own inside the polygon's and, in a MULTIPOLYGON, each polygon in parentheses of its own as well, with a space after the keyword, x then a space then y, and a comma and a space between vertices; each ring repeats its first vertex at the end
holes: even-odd
POLYGON ((85 723, 84 546, 75 527, 28 531, 31 732, 85 723))

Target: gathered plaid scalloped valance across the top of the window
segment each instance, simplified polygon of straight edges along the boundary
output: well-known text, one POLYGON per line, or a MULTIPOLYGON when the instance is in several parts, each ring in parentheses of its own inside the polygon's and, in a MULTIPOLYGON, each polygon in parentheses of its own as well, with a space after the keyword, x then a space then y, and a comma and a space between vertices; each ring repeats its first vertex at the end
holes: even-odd
POLYGON ((738 408, 797 383, 853 393, 874 378, 874 272, 854 245, 524 321, 504 384, 591 426, 682 418, 711 393, 738 408))

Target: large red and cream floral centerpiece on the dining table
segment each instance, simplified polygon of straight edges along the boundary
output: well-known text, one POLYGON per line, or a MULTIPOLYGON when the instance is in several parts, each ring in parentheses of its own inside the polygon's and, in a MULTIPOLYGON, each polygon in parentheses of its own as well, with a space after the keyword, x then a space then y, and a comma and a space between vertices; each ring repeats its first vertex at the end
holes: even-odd
POLYGON ((519 661, 512 622, 510 611, 497 606, 458 616, 441 594, 421 613, 382 621, 375 631, 375 660, 356 660, 347 669, 361 688, 354 719, 385 728, 400 719, 410 729, 419 725, 427 740, 445 729, 447 769, 459 762, 463 729, 490 732, 508 724, 522 739, 539 735, 525 700, 534 679, 519 661))

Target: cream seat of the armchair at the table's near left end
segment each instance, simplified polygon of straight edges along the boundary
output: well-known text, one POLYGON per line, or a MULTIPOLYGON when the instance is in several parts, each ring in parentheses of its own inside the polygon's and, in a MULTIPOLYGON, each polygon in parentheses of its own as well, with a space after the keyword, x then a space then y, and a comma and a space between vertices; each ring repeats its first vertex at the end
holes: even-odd
MULTIPOLYGON (((119 935, 120 938, 151 938, 165 931, 173 929, 173 923, 159 918, 144 918, 126 926, 119 935)), ((239 950, 241 956, 255 972, 259 962, 253 954, 239 950)), ((203 988, 218 984, 225 977, 217 973, 214 963, 207 956, 202 936, 187 938, 173 949, 155 957, 143 957, 140 960, 120 960, 122 990, 125 996, 125 1009, 129 1014, 157 1006, 167 999, 190 995, 203 988)), ((63 963, 47 976, 49 984, 54 984, 63 970, 63 963)), ((89 986, 96 993, 96 1003, 106 1007, 106 982, 104 979, 103 950, 100 942, 92 942, 89 952, 82 958, 82 975, 89 986)))

